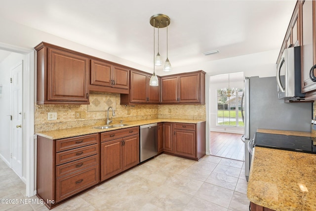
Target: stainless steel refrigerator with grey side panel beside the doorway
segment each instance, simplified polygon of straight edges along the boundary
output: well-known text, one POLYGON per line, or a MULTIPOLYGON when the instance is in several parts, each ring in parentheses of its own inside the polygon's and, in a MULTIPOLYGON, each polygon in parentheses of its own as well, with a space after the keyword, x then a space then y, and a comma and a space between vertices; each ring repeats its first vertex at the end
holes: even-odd
POLYGON ((277 98, 276 77, 244 80, 245 176, 248 180, 251 155, 248 142, 258 128, 311 131, 312 103, 284 103, 277 98))

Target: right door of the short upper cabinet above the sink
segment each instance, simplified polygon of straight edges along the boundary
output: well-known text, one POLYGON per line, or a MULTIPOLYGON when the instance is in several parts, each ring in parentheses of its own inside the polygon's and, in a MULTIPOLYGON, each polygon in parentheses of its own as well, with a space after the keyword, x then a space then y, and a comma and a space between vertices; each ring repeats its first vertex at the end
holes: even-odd
POLYGON ((129 89, 129 70, 113 66, 113 87, 129 89))

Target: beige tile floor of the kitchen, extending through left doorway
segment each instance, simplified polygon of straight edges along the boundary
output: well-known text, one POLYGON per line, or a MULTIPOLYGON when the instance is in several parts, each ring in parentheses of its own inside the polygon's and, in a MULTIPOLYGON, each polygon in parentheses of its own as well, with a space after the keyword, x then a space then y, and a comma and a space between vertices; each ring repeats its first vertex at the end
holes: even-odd
MULTIPOLYGON (((57 206, 53 211, 248 211, 242 161, 199 162, 159 155, 57 206)), ((25 184, 0 160, 0 199, 27 199, 25 184)), ((31 200, 37 197, 31 197, 31 200)), ((0 211, 47 211, 42 204, 0 204, 0 211)))

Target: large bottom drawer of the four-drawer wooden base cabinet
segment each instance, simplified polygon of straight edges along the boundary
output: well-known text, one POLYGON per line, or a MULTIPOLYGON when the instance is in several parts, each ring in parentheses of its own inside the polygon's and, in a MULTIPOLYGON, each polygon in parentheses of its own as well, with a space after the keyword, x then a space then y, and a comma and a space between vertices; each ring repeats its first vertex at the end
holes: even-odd
POLYGON ((99 182, 99 166, 82 169, 77 173, 63 176, 56 182, 56 202, 72 196, 99 182))

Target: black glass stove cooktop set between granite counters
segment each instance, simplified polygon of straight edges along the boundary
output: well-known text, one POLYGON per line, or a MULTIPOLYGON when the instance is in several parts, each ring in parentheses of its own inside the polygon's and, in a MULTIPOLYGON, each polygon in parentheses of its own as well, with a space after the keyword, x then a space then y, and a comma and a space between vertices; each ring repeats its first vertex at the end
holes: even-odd
POLYGON ((316 154, 311 137, 256 132, 253 146, 316 154))

